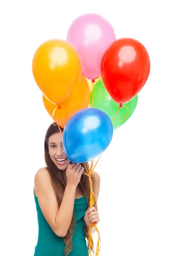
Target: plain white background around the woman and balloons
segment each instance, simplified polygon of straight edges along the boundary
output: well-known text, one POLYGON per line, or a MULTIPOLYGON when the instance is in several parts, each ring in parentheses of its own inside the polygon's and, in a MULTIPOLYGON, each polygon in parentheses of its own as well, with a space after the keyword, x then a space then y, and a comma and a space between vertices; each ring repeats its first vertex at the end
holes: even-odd
MULTIPOLYGON (((37 244, 34 175, 44 162, 52 120, 31 70, 35 50, 52 38, 66 40, 79 15, 95 12, 116 38, 146 47, 150 76, 133 116, 115 131, 96 172, 99 256, 170 255, 170 15, 168 1, 70 0, 0 3, 0 255, 33 256, 37 244)), ((97 233, 94 235, 95 248, 97 233)))

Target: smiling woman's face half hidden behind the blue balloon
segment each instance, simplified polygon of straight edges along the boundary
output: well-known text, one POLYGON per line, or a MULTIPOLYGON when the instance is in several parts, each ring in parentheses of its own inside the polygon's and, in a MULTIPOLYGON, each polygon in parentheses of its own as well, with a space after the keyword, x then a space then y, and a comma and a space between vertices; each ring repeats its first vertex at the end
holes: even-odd
POLYGON ((48 139, 49 155, 59 170, 65 170, 68 167, 69 160, 65 155, 62 145, 62 134, 57 132, 48 139))

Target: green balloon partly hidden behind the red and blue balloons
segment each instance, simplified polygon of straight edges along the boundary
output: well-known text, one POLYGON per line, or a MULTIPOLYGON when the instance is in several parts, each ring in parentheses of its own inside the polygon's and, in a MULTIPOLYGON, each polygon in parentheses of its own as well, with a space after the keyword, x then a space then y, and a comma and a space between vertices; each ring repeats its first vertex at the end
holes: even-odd
MULTIPOLYGON (((113 122, 117 108, 119 107, 119 104, 116 103, 111 98, 108 91, 103 86, 104 86, 104 84, 103 84, 102 78, 100 78, 94 84, 94 106, 93 107, 104 111, 110 117, 111 121, 113 122)), ((93 98, 93 90, 91 90, 90 107, 92 107, 92 98, 93 98)), ((115 121, 114 121, 114 125, 113 125, 114 130, 116 130, 117 128, 122 126, 125 122, 127 122, 127 120, 130 118, 130 116, 135 111, 137 102, 138 102, 138 95, 136 95, 129 102, 123 104, 123 105, 127 106, 128 111, 129 111, 126 118, 125 118, 125 116, 127 114, 127 108, 125 108, 125 107, 119 108, 118 113, 115 118, 115 121), (122 122, 120 122, 120 120, 122 120, 122 119, 124 119, 124 120, 122 122)))

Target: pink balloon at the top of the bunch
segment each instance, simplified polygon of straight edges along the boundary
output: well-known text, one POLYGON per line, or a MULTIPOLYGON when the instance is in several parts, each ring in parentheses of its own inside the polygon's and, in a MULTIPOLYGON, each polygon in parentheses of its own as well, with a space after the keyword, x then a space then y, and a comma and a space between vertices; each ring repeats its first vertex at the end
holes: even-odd
POLYGON ((77 17, 68 29, 67 41, 77 50, 82 74, 95 79, 101 74, 101 61, 106 48, 116 40, 111 23, 97 14, 77 17))

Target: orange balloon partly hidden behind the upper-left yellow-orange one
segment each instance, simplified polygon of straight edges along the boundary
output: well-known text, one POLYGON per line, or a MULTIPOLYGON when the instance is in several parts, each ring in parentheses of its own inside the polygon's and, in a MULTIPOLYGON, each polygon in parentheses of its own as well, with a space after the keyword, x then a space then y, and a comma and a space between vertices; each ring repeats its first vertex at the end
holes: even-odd
MULTIPOLYGON (((44 95, 42 95, 46 111, 52 117, 56 105, 52 104, 44 95)), ((74 91, 68 97, 64 104, 57 107, 53 120, 62 128, 65 127, 68 119, 77 111, 88 108, 90 104, 90 88, 84 76, 81 76, 74 91)))

